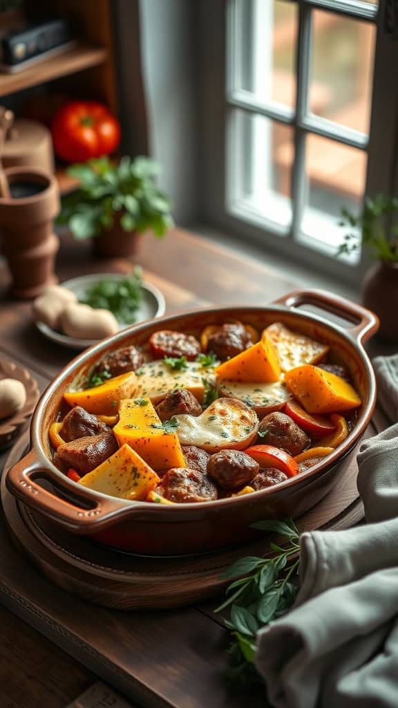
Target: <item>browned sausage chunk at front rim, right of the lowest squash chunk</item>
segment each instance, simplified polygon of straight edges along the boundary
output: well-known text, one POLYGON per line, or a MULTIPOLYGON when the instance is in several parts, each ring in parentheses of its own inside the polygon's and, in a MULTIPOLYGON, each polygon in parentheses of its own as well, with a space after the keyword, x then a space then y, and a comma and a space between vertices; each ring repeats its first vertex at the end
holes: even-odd
POLYGON ((169 469, 157 491, 166 499, 183 504, 217 499, 217 487, 207 474, 189 467, 169 469))

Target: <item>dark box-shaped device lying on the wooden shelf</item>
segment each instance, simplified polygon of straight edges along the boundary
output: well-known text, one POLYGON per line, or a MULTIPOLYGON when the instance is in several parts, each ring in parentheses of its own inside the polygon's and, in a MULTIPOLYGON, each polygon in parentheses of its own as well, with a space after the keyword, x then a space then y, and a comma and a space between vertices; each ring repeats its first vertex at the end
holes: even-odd
POLYGON ((70 49, 74 43, 69 23, 65 20, 26 25, 1 38, 0 71, 8 74, 20 72, 70 49))

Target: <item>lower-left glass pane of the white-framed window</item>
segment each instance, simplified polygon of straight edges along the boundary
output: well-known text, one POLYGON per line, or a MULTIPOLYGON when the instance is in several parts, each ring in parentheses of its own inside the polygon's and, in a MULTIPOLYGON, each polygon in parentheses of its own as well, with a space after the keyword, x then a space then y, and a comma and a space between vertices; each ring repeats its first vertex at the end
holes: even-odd
POLYGON ((229 207, 290 225, 293 131, 263 115, 234 109, 228 139, 229 207), (280 155, 283 154, 283 161, 280 155))

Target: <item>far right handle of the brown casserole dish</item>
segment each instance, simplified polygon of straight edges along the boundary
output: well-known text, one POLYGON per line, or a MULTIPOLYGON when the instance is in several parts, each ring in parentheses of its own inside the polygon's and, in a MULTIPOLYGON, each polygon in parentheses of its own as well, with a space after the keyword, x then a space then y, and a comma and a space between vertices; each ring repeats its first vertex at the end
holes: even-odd
POLYGON ((342 317, 352 322, 353 326, 340 327, 340 329, 347 331, 358 343, 365 342, 377 332, 380 325, 379 318, 370 310, 327 290, 293 290, 288 295, 274 300, 273 304, 281 304, 291 308, 300 307, 300 305, 313 305, 342 317))

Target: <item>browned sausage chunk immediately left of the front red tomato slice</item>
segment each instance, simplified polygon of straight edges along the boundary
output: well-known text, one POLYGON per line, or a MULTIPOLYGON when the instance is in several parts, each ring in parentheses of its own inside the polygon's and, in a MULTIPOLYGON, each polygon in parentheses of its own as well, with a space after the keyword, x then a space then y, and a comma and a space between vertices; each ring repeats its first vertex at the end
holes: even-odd
POLYGON ((249 484, 259 469, 259 464, 241 450, 220 450, 211 455, 207 473, 223 489, 239 489, 249 484))

